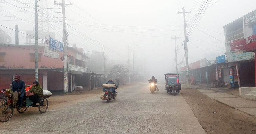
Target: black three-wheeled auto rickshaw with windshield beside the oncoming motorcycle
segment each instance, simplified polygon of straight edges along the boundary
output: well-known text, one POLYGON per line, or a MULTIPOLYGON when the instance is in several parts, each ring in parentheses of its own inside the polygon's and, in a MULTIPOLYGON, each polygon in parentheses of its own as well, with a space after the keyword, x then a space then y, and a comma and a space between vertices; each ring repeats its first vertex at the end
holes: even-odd
POLYGON ((173 95, 175 95, 176 92, 179 93, 179 90, 181 90, 181 84, 179 83, 179 74, 167 73, 164 74, 164 78, 166 92, 173 92, 173 95))

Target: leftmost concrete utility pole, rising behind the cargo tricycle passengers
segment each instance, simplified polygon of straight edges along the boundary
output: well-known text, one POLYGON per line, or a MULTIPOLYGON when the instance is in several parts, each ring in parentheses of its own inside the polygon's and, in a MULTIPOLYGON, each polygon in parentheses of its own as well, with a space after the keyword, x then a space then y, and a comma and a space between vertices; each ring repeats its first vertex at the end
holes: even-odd
MULTIPOLYGON (((40 1, 40 0, 38 0, 40 1)), ((38 22, 37 22, 37 0, 35 0, 35 81, 38 82, 38 22)))

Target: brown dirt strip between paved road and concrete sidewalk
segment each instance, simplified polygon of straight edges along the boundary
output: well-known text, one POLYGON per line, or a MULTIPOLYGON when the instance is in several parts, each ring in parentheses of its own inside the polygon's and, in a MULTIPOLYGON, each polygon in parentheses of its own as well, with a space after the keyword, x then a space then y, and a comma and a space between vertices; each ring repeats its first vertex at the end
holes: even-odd
POLYGON ((220 103, 196 89, 182 89, 182 96, 206 133, 256 133, 256 118, 220 103))

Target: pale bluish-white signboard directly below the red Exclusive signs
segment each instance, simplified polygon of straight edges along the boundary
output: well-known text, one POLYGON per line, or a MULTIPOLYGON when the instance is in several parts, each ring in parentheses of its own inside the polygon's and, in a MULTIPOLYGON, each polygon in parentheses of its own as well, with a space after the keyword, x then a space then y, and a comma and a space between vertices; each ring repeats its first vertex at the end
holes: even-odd
POLYGON ((227 53, 228 62, 239 61, 239 60, 251 60, 251 52, 236 52, 236 53, 227 53))

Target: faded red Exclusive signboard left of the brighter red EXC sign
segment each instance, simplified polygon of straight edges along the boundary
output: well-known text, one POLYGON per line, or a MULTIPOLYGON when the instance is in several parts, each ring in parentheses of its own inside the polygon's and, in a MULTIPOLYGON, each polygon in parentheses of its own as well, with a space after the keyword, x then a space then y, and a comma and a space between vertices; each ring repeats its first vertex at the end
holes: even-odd
POLYGON ((245 52, 243 39, 229 41, 231 52, 245 52))

